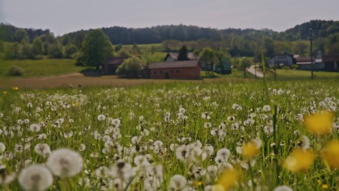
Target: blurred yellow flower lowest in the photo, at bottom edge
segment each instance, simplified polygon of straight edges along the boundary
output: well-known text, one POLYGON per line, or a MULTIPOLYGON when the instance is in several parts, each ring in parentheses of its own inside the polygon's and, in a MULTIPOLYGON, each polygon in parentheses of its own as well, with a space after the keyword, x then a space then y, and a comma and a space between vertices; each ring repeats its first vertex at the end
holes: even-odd
POLYGON ((218 179, 217 185, 212 187, 212 191, 228 191, 234 188, 239 179, 240 173, 234 169, 226 169, 218 179))

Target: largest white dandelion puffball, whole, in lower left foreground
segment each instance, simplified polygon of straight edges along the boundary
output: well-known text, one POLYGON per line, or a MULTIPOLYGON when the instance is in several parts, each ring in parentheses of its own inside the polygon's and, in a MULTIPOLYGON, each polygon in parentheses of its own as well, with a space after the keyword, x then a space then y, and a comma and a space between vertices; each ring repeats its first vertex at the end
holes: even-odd
POLYGON ((82 170, 83 161, 79 153, 61 148, 51 153, 47 166, 58 177, 72 177, 82 170))

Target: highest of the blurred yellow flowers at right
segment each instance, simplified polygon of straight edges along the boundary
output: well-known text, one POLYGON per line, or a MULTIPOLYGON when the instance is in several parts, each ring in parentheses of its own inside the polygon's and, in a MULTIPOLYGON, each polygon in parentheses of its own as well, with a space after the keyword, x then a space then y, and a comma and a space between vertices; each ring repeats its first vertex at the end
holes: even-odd
POLYGON ((331 132, 334 115, 329 111, 321 111, 305 117, 304 126, 314 134, 323 135, 331 132))

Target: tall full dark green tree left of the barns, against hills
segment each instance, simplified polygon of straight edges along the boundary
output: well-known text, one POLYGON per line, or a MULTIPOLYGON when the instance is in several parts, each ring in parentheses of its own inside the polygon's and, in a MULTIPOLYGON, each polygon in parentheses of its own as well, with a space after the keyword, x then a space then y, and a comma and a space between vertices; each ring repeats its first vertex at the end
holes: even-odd
POLYGON ((94 29, 86 36, 82 48, 82 62, 99 70, 106 58, 113 56, 113 47, 101 29, 94 29))

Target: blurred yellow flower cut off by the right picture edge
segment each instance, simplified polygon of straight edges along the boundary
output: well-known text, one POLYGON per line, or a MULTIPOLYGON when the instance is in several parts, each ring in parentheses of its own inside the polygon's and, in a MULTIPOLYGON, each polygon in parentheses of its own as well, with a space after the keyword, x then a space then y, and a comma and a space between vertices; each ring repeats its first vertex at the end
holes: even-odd
POLYGON ((323 160, 332 168, 339 168, 339 140, 333 140, 325 146, 323 160))

